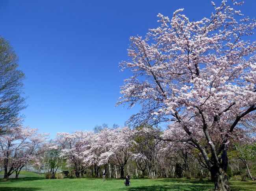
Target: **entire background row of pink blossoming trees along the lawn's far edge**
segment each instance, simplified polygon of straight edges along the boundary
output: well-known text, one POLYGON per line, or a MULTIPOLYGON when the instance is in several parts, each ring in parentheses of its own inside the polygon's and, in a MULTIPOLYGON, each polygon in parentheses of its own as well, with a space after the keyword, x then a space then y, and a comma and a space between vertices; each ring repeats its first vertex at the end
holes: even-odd
MULTIPOLYGON (((166 136, 178 135, 143 125, 134 129, 104 128, 97 133, 58 133, 49 142, 47 135, 37 133, 36 129, 18 127, 1 136, 0 162, 6 179, 14 172, 18 178, 20 170, 28 164, 50 173, 50 178, 55 178, 61 169, 68 169, 77 178, 100 177, 103 170, 109 178, 123 178, 126 174, 136 178, 209 176, 198 149, 184 142, 170 142, 166 136)), ((228 143, 229 171, 236 174, 247 170, 253 179, 255 174, 250 169, 256 167, 254 141, 244 134, 228 143)), ((210 146, 204 143, 204 149, 210 151, 210 146)), ((231 176, 230 172, 227 174, 231 176)))

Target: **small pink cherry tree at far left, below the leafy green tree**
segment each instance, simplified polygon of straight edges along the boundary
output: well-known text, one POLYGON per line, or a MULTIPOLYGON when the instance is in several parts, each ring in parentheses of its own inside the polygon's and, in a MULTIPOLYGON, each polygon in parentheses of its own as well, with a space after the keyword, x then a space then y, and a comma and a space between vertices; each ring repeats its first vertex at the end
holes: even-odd
POLYGON ((38 133, 37 129, 20 126, 7 132, 0 136, 0 152, 6 180, 14 172, 18 178, 20 170, 28 162, 39 163, 39 156, 44 152, 43 144, 48 136, 38 133))

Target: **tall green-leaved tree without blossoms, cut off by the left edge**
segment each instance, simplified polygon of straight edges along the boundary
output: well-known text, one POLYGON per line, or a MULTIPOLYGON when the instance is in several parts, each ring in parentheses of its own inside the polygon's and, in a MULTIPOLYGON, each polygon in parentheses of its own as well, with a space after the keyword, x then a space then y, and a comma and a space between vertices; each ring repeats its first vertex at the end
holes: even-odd
POLYGON ((24 73, 17 63, 13 48, 0 36, 0 135, 17 126, 19 112, 26 107, 21 96, 24 73))

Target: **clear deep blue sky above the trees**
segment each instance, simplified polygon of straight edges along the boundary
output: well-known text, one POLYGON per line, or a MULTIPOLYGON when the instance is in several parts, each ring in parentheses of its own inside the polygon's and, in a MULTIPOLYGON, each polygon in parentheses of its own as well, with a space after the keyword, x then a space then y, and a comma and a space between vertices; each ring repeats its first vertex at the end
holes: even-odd
MULTIPOLYGON (((215 1, 216 5, 220 1, 215 1)), ((190 20, 213 11, 211 0, 0 0, 0 35, 9 40, 25 73, 24 126, 49 132, 121 126, 138 108, 115 107, 129 37, 158 26, 156 15, 185 8, 190 20)), ((256 17, 256 1, 245 0, 256 17)))

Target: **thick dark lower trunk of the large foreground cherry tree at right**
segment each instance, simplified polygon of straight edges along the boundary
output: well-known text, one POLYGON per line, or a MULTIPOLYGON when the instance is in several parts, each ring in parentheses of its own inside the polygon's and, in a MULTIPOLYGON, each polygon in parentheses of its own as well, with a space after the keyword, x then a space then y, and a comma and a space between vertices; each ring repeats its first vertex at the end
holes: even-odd
POLYGON ((216 191, 230 191, 228 176, 221 167, 211 167, 211 178, 216 191))

